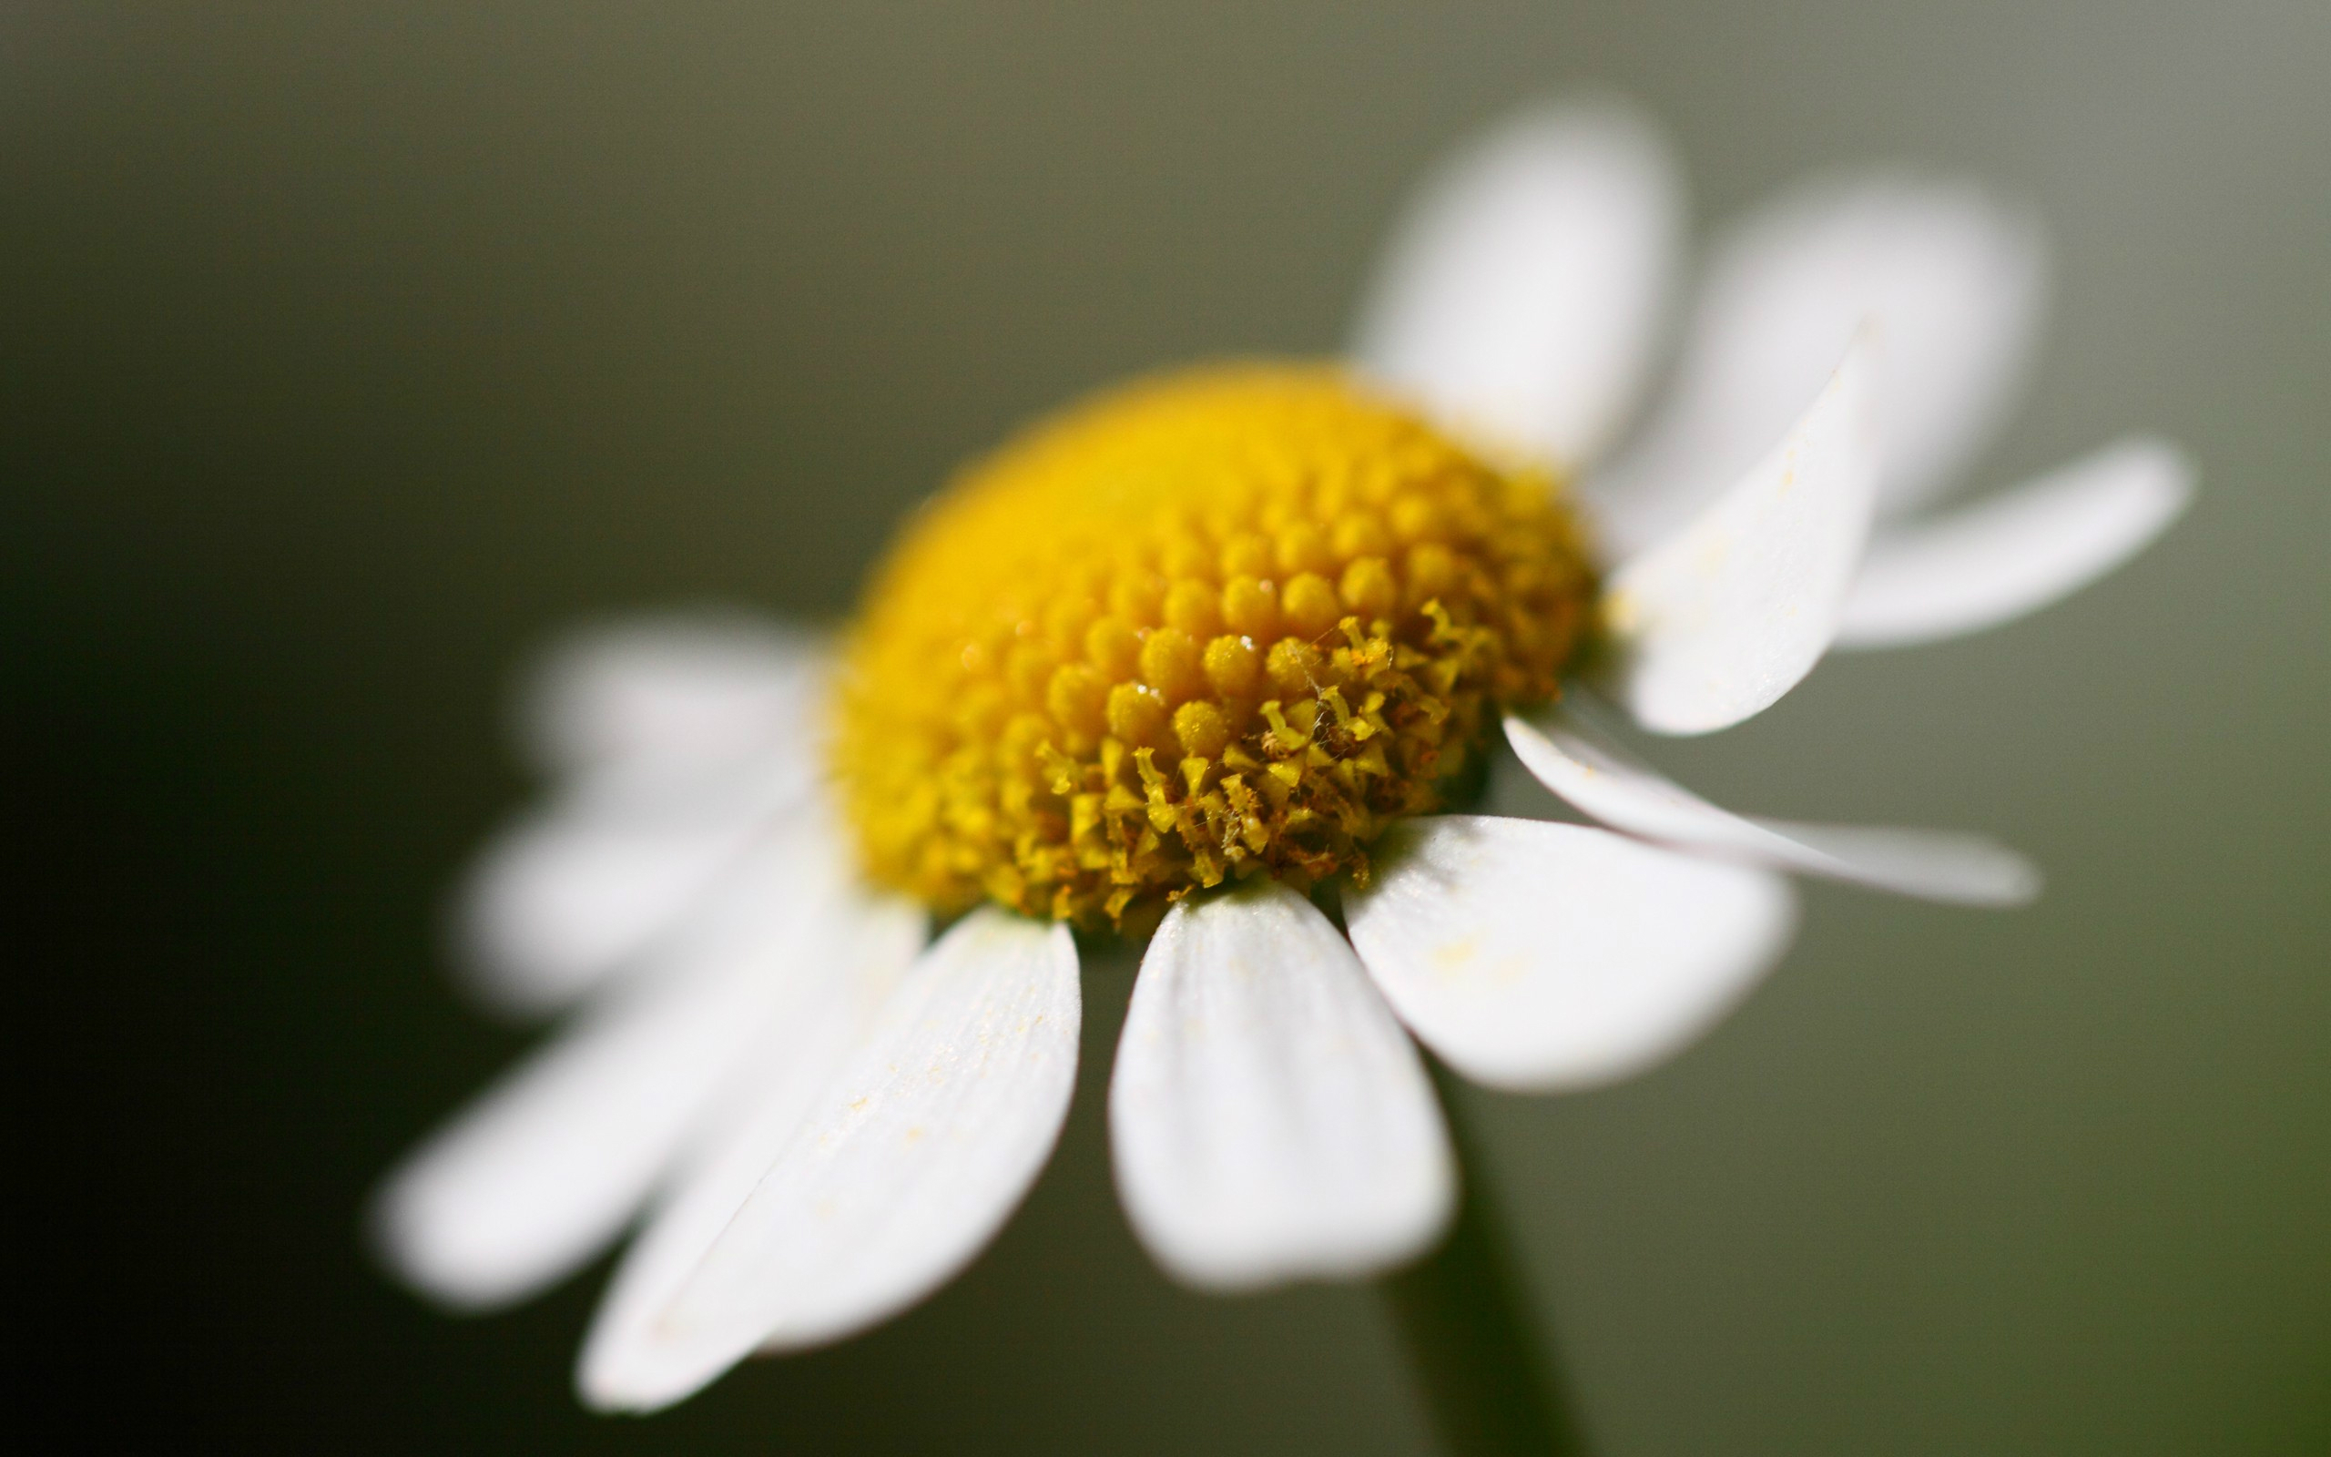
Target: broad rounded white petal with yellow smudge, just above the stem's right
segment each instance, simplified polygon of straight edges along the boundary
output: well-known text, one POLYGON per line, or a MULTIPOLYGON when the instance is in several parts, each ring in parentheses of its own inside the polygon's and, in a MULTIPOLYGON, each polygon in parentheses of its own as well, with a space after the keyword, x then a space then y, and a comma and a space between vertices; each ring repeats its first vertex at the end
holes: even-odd
POLYGON ((1615 1082, 1716 1026, 1788 944, 1788 881, 1583 825, 1394 825, 1352 944, 1401 1019, 1501 1089, 1615 1082))

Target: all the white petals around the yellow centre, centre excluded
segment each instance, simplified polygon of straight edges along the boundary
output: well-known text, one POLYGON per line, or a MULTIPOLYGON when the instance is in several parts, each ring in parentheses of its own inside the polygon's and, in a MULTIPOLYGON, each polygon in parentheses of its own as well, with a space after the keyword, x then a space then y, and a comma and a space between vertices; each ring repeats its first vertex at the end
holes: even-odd
MULTIPOLYGON (((1583 476, 1615 562, 1594 685, 1641 727, 1739 723, 1832 641, 2021 615, 2184 504, 2184 462, 2135 438, 1911 515, 2012 401, 2042 268, 1981 191, 1895 175, 1809 184, 1727 231, 1674 392, 1604 459, 1681 214, 1632 112, 1522 117, 1427 191, 1357 350, 1480 450, 1583 476)), ((583 1352, 594 1406, 657 1408, 923 1298, 1002 1226, 1068 1112, 1068 930, 979 909, 925 946, 916 907, 855 881, 823 793, 823 674, 816 639, 748 620, 576 639, 527 699, 555 795, 469 886, 480 991, 580 1009, 396 1173, 380 1231, 415 1284, 483 1308, 646 1210, 583 1352)), ((1168 911, 1110 1126, 1133 1226, 1182 1280, 1366 1275, 1441 1231, 1452 1159, 1410 1035, 1492 1086, 1608 1082, 1774 963, 1781 870, 1972 905, 2037 886, 1984 839, 1727 814, 1576 706, 1506 734, 1608 830, 1406 821, 1345 891, 1347 932, 1270 879, 1168 911)))

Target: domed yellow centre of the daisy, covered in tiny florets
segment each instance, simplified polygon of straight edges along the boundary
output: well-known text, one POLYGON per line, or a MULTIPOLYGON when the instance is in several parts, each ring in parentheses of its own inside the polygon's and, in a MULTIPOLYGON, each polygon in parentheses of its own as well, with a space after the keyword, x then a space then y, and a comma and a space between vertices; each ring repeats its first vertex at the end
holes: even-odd
POLYGON ((1333 368, 1103 394, 963 471, 848 636, 834 734, 867 872, 1093 925, 1224 879, 1368 874, 1592 604, 1555 483, 1333 368))

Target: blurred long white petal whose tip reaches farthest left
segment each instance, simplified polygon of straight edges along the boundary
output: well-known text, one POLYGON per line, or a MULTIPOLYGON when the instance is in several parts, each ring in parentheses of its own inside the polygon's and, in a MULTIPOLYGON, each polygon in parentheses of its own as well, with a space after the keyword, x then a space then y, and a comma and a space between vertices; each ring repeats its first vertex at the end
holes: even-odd
POLYGON ((797 991, 841 893, 814 860, 755 870, 662 953, 671 965, 562 1030, 389 1177, 375 1229, 408 1280, 450 1305, 499 1305, 632 1219, 797 991))

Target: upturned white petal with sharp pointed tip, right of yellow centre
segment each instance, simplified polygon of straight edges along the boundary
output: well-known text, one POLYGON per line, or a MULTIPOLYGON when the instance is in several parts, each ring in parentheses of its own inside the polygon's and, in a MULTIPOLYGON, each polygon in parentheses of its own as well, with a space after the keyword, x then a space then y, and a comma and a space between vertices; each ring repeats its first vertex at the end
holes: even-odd
POLYGON ((1869 350, 1692 525, 1611 573, 1613 697, 1662 734, 1772 706, 1837 632, 1869 534, 1869 350))

